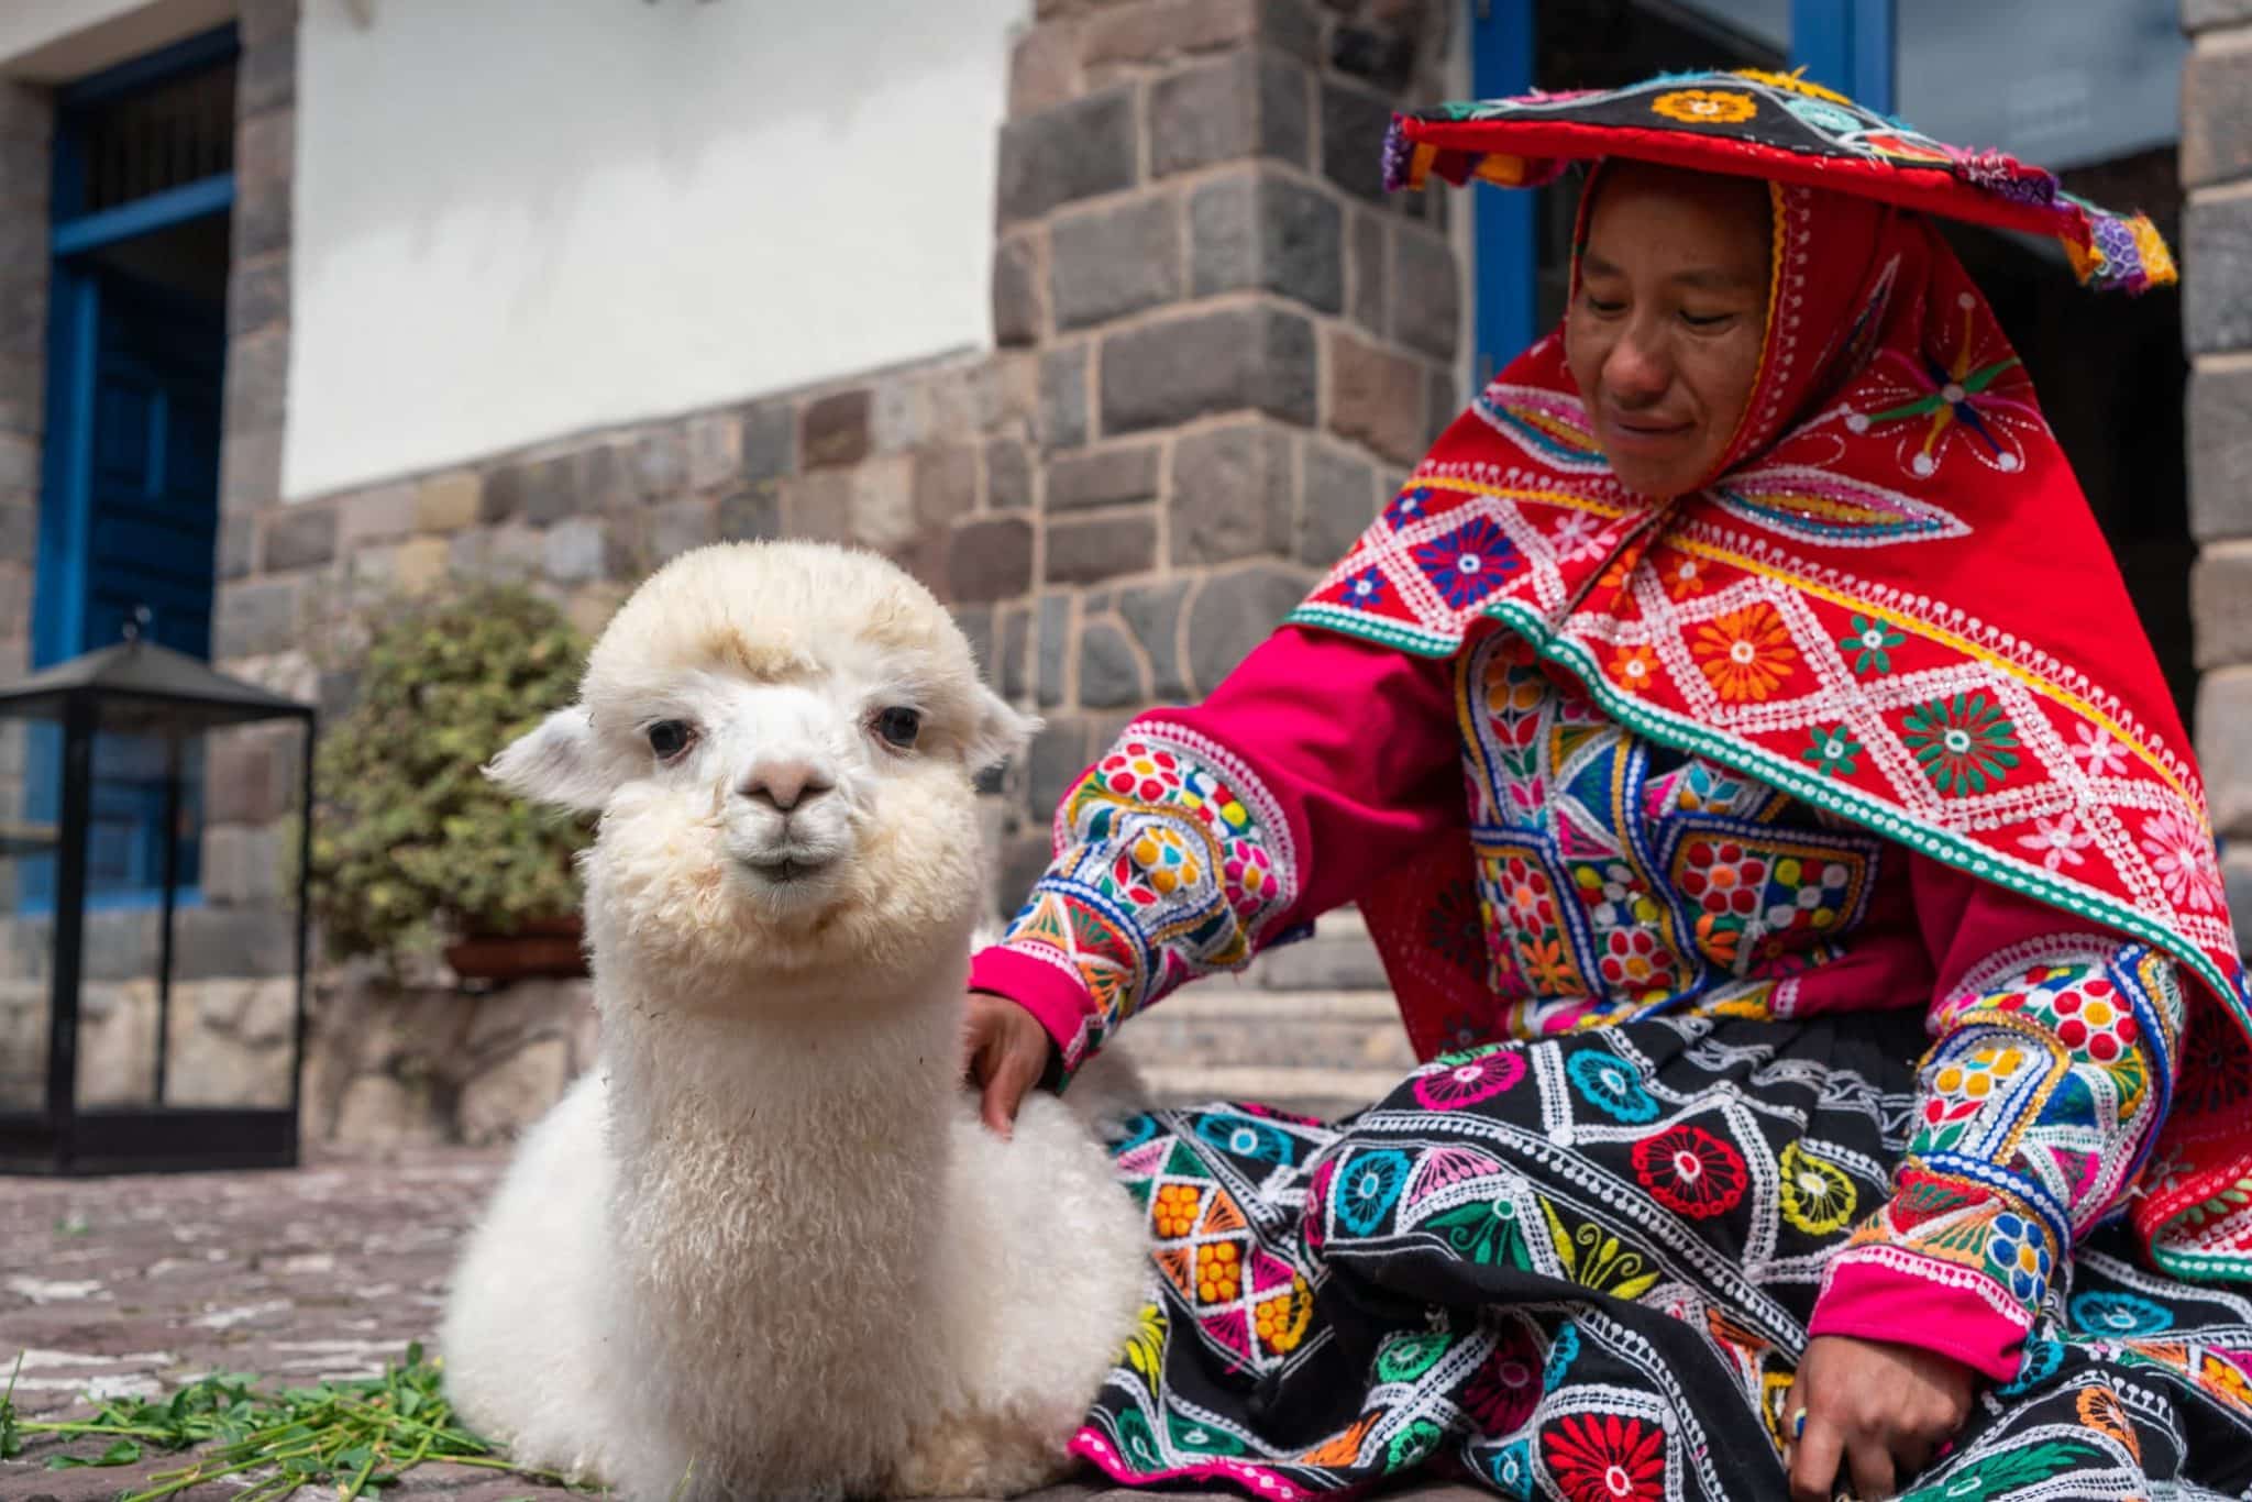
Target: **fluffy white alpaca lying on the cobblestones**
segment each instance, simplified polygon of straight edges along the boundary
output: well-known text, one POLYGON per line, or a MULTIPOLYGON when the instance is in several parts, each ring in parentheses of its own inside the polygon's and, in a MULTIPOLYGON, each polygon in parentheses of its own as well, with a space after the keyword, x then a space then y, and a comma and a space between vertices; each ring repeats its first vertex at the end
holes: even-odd
POLYGON ((493 763, 601 813, 601 1065, 525 1137, 441 1331, 518 1459, 649 1502, 1067 1470, 1144 1236, 1083 1119, 1126 1083, 1036 1092, 1000 1142, 959 1079, 971 775, 1029 730, 890 563, 745 543, 644 583, 493 763))

